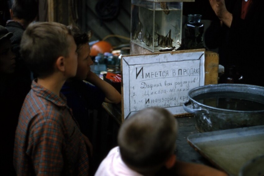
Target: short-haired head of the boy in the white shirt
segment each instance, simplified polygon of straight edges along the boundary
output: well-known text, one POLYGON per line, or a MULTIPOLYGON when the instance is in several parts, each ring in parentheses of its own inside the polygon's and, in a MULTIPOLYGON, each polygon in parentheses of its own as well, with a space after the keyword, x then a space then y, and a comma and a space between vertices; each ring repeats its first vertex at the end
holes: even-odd
POLYGON ((122 160, 139 173, 155 172, 174 156, 176 137, 177 121, 169 111, 141 110, 120 127, 118 145, 122 160))

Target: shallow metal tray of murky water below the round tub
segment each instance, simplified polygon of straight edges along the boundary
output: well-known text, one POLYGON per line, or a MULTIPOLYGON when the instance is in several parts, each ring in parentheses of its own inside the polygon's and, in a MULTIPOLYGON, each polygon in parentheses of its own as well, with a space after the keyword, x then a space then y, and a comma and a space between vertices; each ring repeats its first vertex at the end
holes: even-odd
POLYGON ((187 140, 213 165, 237 176, 247 161, 264 154, 264 125, 191 134, 187 140))

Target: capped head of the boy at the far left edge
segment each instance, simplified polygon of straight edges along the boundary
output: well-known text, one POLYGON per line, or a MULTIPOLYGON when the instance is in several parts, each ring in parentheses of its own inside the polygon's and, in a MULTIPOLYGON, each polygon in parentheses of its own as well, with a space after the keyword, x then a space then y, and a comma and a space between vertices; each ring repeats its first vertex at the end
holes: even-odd
POLYGON ((0 73, 10 74, 15 71, 15 55, 11 51, 10 38, 13 33, 0 25, 0 73))

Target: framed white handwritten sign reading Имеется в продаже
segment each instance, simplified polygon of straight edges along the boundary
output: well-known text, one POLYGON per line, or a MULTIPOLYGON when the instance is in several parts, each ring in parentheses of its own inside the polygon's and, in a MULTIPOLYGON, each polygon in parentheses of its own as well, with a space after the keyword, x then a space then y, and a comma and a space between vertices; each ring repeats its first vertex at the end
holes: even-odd
POLYGON ((186 113, 189 90, 204 85, 204 51, 188 51, 121 57, 123 120, 148 107, 186 113))

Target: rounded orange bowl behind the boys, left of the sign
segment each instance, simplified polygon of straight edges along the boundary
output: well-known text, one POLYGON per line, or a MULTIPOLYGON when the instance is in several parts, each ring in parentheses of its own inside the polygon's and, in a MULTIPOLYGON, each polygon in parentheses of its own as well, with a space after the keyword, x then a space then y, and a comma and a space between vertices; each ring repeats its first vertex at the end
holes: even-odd
POLYGON ((97 56, 99 53, 112 52, 113 47, 109 42, 99 41, 91 47, 90 56, 97 56))

